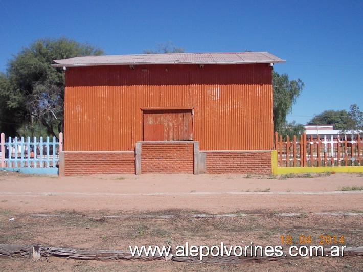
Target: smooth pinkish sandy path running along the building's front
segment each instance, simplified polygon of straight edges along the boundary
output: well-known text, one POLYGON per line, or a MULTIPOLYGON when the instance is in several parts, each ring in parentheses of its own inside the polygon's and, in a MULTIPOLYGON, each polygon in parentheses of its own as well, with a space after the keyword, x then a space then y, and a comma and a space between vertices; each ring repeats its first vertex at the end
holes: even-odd
POLYGON ((0 175, 0 208, 26 213, 60 210, 140 213, 165 209, 336 212, 363 210, 363 176, 336 173, 314 178, 268 179, 244 174, 0 175))

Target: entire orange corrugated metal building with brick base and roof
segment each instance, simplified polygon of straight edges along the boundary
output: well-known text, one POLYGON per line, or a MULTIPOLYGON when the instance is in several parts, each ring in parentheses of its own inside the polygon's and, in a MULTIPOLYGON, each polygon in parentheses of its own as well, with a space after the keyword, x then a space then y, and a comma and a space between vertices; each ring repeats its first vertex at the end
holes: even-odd
POLYGON ((62 173, 270 172, 271 67, 284 60, 243 52, 54 62, 66 69, 62 173))

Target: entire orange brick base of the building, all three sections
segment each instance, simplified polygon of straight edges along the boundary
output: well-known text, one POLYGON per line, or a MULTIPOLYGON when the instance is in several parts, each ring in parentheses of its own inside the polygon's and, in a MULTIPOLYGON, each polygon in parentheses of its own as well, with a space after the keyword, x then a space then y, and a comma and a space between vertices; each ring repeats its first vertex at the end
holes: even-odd
POLYGON ((271 150, 199 151, 198 142, 138 142, 133 151, 60 152, 59 175, 121 173, 271 174, 271 150))

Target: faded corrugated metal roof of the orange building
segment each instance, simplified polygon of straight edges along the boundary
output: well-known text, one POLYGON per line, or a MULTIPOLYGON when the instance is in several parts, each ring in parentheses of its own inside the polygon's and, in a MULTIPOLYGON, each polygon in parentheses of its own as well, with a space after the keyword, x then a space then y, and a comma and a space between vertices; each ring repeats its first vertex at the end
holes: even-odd
POLYGON ((53 67, 139 64, 248 64, 286 62, 268 52, 171 53, 78 56, 54 60, 53 67))

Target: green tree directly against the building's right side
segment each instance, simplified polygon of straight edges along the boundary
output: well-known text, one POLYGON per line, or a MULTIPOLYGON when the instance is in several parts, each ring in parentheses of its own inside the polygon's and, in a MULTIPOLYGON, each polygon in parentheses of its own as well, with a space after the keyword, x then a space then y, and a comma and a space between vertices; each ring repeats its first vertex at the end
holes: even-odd
POLYGON ((288 126, 286 116, 291 112, 292 105, 304 88, 301 79, 289 80, 287 74, 279 74, 273 70, 274 89, 274 131, 282 134, 288 126))

